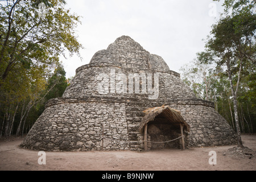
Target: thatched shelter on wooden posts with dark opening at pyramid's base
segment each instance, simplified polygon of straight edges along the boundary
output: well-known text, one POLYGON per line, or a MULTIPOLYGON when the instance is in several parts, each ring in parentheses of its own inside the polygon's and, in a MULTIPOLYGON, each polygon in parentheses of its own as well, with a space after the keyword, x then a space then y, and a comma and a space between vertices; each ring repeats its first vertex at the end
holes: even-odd
POLYGON ((144 110, 145 116, 139 130, 144 133, 144 150, 150 143, 151 149, 185 149, 188 140, 189 125, 179 111, 168 106, 151 107, 144 110), (150 141, 148 140, 150 135, 150 141))

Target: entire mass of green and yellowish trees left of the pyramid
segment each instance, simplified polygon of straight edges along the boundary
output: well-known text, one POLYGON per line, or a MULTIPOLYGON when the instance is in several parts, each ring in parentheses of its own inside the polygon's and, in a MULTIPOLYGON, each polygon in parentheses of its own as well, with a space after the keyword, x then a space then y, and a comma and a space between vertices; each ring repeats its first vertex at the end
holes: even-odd
POLYGON ((61 97, 68 85, 60 56, 80 56, 82 46, 75 33, 80 16, 64 5, 63 0, 1 2, 0 136, 29 130, 46 101, 61 97), (39 14, 40 3, 46 16, 39 14))

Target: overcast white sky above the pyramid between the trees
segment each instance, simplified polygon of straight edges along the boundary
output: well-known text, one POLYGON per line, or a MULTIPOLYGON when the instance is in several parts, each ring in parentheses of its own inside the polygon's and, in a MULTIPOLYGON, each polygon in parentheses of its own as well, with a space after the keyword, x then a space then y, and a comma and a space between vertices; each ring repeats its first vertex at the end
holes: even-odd
POLYGON ((77 30, 82 61, 62 59, 66 77, 88 64, 94 53, 127 35, 163 57, 172 71, 195 59, 204 50, 210 26, 218 19, 222 2, 211 0, 66 0, 71 12, 82 16, 77 30), (214 4, 213 4, 214 3, 214 4), (216 5, 216 9, 214 6, 216 5), (214 16, 214 11, 216 16, 214 16))

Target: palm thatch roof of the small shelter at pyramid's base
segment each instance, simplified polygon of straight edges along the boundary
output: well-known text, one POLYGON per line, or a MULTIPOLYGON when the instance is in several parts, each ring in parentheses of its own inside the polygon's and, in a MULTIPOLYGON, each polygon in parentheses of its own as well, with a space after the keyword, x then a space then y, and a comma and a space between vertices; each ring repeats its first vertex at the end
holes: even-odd
POLYGON ((141 125, 139 126, 139 132, 143 133, 144 126, 150 122, 154 121, 155 117, 159 114, 163 114, 170 124, 182 124, 185 129, 189 131, 189 125, 183 117, 181 116, 180 111, 172 109, 169 106, 160 106, 160 107, 151 107, 143 111, 145 113, 144 118, 142 119, 141 125))

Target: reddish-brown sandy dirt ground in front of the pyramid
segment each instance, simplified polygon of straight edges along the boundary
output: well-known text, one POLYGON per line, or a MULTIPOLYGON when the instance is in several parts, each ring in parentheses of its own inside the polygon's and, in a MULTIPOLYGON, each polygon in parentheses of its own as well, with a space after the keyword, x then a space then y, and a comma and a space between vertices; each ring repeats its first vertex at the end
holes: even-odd
MULTIPOLYGON (((256 151, 256 135, 242 135, 243 145, 256 151)), ((22 138, 0 140, 1 171, 236 171, 256 170, 256 156, 225 155, 235 146, 164 149, 154 151, 46 152, 39 164, 39 151, 20 148, 22 138), (209 164, 216 151, 216 165, 209 164)))

